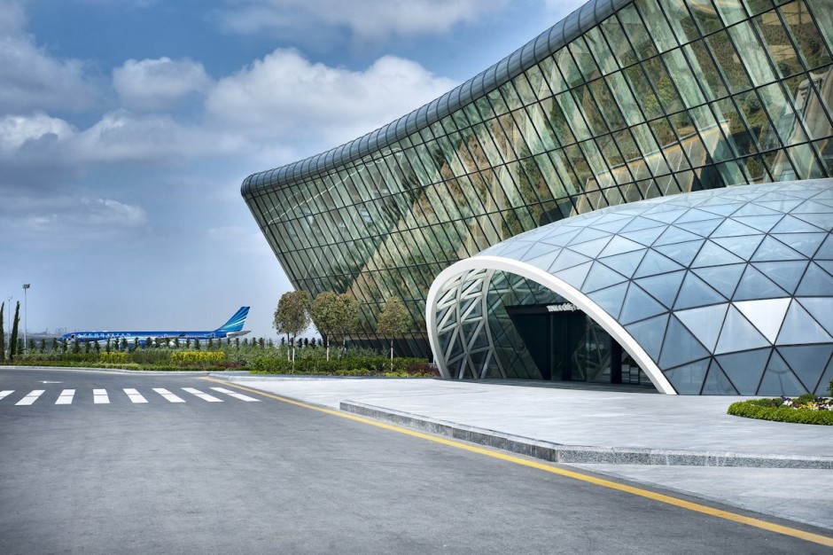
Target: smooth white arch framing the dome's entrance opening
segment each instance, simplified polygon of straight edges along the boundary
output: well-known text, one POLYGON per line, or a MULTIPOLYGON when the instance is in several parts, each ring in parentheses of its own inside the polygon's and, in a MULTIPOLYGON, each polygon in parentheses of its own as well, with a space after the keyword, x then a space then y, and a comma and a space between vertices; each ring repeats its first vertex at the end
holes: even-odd
MULTIPOLYGON (((558 248, 554 246, 553 248, 558 248)), ((445 358, 445 353, 440 350, 440 333, 438 322, 436 318, 437 303, 440 300, 440 294, 443 292, 443 286, 454 277, 471 270, 499 270, 510 274, 515 274, 526 279, 530 279, 537 284, 549 288, 549 290, 558 293, 564 299, 571 301, 579 309, 584 311, 589 317, 593 318, 597 324, 600 324, 604 331, 611 334, 611 337, 619 345, 624 348, 627 353, 634 358, 634 361, 639 364, 645 374, 650 379, 654 387, 666 395, 677 395, 671 382, 659 370, 659 367, 653 360, 651 360, 645 349, 634 340, 633 336, 622 327, 611 315, 599 307, 596 302, 592 301, 587 295, 581 293, 572 285, 567 284, 556 276, 553 276, 545 270, 536 268, 526 262, 520 262, 503 256, 491 255, 475 255, 460 262, 455 262, 447 269, 442 270, 437 276, 428 291, 428 298, 425 301, 425 322, 428 324, 428 340, 431 343, 432 352, 437 356, 437 363, 440 366, 440 372, 444 378, 448 378, 448 366, 445 358)), ((459 286, 459 285, 458 285, 459 286)), ((487 295, 487 288, 480 293, 487 295)), ((486 315, 484 315, 486 317, 486 315)), ((491 334, 490 334, 491 335, 491 334)), ((489 337, 491 341, 491 337, 489 337)), ((491 346, 494 356, 494 344, 491 346)))

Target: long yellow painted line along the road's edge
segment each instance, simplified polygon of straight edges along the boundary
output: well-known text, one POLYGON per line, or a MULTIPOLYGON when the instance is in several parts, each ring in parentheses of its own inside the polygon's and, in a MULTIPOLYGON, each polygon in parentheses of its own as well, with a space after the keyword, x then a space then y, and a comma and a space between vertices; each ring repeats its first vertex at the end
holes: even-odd
POLYGON ((416 430, 410 430, 409 428, 404 428, 401 426, 385 424, 384 422, 379 422, 370 418, 356 416, 348 412, 326 409, 324 407, 318 407, 314 404, 309 403, 301 403, 300 401, 295 401, 294 399, 289 399, 280 395, 273 395, 264 391, 260 391, 258 389, 253 389, 252 387, 239 386, 235 383, 231 383, 223 379, 202 379, 216 381, 217 383, 223 383, 230 387, 237 387, 237 389, 242 389, 244 391, 248 391, 257 395, 263 395, 265 397, 269 397, 270 399, 275 399, 276 401, 281 401, 283 403, 293 404, 299 407, 303 407, 305 409, 318 410, 319 412, 325 412, 327 414, 331 414, 332 416, 337 416, 339 418, 347 418, 348 420, 362 422, 363 424, 370 424, 370 426, 377 426, 379 428, 384 428, 385 430, 398 432, 399 434, 406 434, 413 437, 418 437, 429 442, 442 443, 443 445, 448 445, 449 447, 455 447, 457 449, 471 451, 472 453, 478 453, 480 455, 485 455, 486 457, 498 458, 510 463, 514 463, 516 465, 528 466, 530 468, 536 468, 544 472, 559 474, 561 476, 572 478, 574 480, 586 481, 591 484, 596 484, 597 486, 602 486, 603 488, 616 489, 618 491, 624 491, 634 496, 647 497, 648 499, 653 499, 654 501, 658 501, 660 503, 671 504, 675 507, 688 509, 689 511, 702 512, 704 514, 708 514, 719 519, 731 520, 733 522, 739 522, 747 526, 752 526, 755 528, 768 530, 770 532, 775 532, 776 534, 789 535, 791 537, 806 540, 807 542, 819 543, 821 545, 833 547, 833 537, 829 537, 827 535, 813 534, 804 530, 799 530, 798 528, 790 528, 787 526, 782 526, 780 524, 775 524, 774 522, 767 522, 767 520, 753 519, 751 517, 743 516, 742 514, 722 511, 720 509, 715 509, 704 504, 692 503, 690 501, 686 501, 685 499, 680 499, 678 497, 666 496, 660 493, 656 493, 654 491, 649 491, 648 489, 634 488, 634 486, 627 486, 625 484, 619 484, 615 481, 603 480, 601 478, 596 478, 595 476, 588 476, 587 474, 572 472, 570 470, 565 470, 564 468, 558 468, 557 466, 538 463, 532 460, 526 460, 525 458, 515 457, 513 455, 507 455, 498 451, 484 449, 481 447, 476 447, 474 445, 468 445, 466 443, 456 442, 454 440, 449 440, 435 435, 423 434, 422 432, 417 432, 416 430))

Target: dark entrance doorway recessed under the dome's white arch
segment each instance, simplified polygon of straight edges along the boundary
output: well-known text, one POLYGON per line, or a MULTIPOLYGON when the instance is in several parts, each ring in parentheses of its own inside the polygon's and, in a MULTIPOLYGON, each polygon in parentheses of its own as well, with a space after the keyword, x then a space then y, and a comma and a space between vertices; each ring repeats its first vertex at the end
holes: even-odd
POLYGON ((543 379, 650 385, 619 343, 572 303, 506 310, 543 379))

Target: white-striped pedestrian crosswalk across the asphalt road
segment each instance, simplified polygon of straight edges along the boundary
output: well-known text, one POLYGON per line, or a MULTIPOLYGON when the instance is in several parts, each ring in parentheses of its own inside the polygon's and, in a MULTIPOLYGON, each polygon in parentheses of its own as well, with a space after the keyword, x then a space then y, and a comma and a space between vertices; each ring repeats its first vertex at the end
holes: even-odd
POLYGON ((231 391, 225 387, 209 387, 209 389, 220 395, 211 395, 210 393, 197 389, 196 387, 181 387, 180 390, 183 394, 180 395, 182 396, 176 395, 176 393, 179 393, 178 391, 174 393, 164 387, 152 387, 149 391, 145 391, 144 393, 134 387, 122 387, 113 391, 97 388, 92 391, 84 391, 82 389, 56 389, 49 392, 45 389, 33 389, 31 391, 4 389, 0 391, 0 406, 30 406, 35 403, 67 405, 73 403, 89 403, 90 398, 92 399, 93 404, 111 404, 111 394, 113 401, 117 403, 127 399, 129 403, 133 404, 147 404, 155 402, 188 403, 189 400, 200 400, 207 403, 223 403, 224 401, 230 401, 232 399, 245 401, 246 403, 257 403, 260 401, 260 399, 255 399, 249 395, 243 395, 237 393, 236 391, 231 391))

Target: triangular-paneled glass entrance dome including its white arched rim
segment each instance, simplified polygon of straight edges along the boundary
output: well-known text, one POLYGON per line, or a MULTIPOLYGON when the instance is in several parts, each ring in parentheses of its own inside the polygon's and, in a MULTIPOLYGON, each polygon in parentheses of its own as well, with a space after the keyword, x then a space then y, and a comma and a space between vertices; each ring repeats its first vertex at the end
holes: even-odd
POLYGON ((452 367, 476 368, 478 377, 506 364, 487 321, 494 299, 478 285, 502 271, 577 304, 666 393, 821 394, 833 379, 831 233, 830 179, 578 215, 442 272, 426 310, 432 347, 447 376, 452 367), (490 308, 449 309, 464 298, 490 308))

